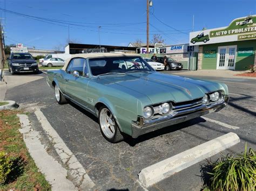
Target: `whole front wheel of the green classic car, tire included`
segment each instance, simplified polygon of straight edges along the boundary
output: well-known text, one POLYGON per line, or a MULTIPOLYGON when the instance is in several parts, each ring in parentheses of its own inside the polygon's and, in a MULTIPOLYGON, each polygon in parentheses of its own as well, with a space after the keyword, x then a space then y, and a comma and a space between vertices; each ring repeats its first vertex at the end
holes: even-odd
POLYGON ((113 114, 106 107, 101 107, 99 109, 99 126, 100 132, 102 132, 103 137, 110 143, 118 143, 124 140, 124 136, 120 132, 116 120, 113 114))

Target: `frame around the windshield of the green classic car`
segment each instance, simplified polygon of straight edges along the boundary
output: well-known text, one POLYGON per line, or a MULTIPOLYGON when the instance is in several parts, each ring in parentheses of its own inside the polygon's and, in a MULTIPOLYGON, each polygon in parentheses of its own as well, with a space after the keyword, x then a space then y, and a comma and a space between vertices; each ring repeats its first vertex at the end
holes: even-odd
MULTIPOLYGON (((150 65, 149 63, 147 63, 141 56, 100 56, 100 57, 90 57, 90 58, 86 58, 86 67, 88 68, 88 73, 89 73, 89 77, 91 78, 96 78, 96 77, 100 77, 100 76, 111 76, 111 75, 93 75, 92 74, 92 71, 91 71, 91 67, 90 67, 90 59, 95 59, 95 58, 123 58, 125 60, 130 60, 131 58, 132 59, 140 59, 140 61, 142 61, 144 63, 144 65, 146 65, 150 70, 147 70, 147 72, 156 72, 156 70, 154 70, 150 65)), ((133 69, 133 70, 137 70, 137 69, 133 69)), ((129 70, 129 71, 132 71, 132 70, 129 70)), ((129 72, 127 71, 127 72, 129 72)), ((145 72, 145 70, 142 70, 142 71, 137 71, 137 72, 145 72)), ((125 72, 123 72, 123 74, 126 74, 125 72)), ((115 75, 115 73, 113 73, 113 75, 115 75)), ((116 74, 117 75, 117 74, 116 74)), ((120 74, 119 74, 120 75, 120 74)))

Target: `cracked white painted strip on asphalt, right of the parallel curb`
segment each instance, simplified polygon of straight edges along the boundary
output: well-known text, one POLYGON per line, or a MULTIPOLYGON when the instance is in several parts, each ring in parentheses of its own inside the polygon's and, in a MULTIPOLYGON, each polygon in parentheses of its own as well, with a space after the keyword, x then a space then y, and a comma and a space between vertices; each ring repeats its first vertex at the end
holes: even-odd
POLYGON ((68 174, 70 174, 72 182, 82 190, 88 190, 94 187, 95 183, 93 183, 93 181, 90 179, 84 167, 77 160, 76 156, 70 151, 68 146, 66 146, 62 138, 59 137, 55 129, 52 128, 43 112, 37 109, 35 111, 35 115, 38 121, 41 123, 46 135, 51 140, 55 151, 60 157, 60 160, 62 160, 63 164, 67 166, 68 174))

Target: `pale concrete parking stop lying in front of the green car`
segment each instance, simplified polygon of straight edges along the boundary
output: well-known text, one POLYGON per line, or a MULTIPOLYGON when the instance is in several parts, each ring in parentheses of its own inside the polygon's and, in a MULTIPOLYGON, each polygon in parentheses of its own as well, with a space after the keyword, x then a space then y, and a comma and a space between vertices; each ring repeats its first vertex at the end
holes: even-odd
POLYGON ((227 133, 142 169, 138 174, 139 181, 143 186, 149 187, 239 142, 240 139, 237 134, 227 133))

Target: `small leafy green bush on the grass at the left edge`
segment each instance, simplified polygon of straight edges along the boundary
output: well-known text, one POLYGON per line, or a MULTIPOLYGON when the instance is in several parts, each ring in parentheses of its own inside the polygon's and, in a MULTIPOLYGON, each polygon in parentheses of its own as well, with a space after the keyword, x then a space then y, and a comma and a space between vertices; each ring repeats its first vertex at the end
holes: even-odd
POLYGON ((5 152, 0 152, 0 184, 4 183, 12 170, 12 161, 5 152))

